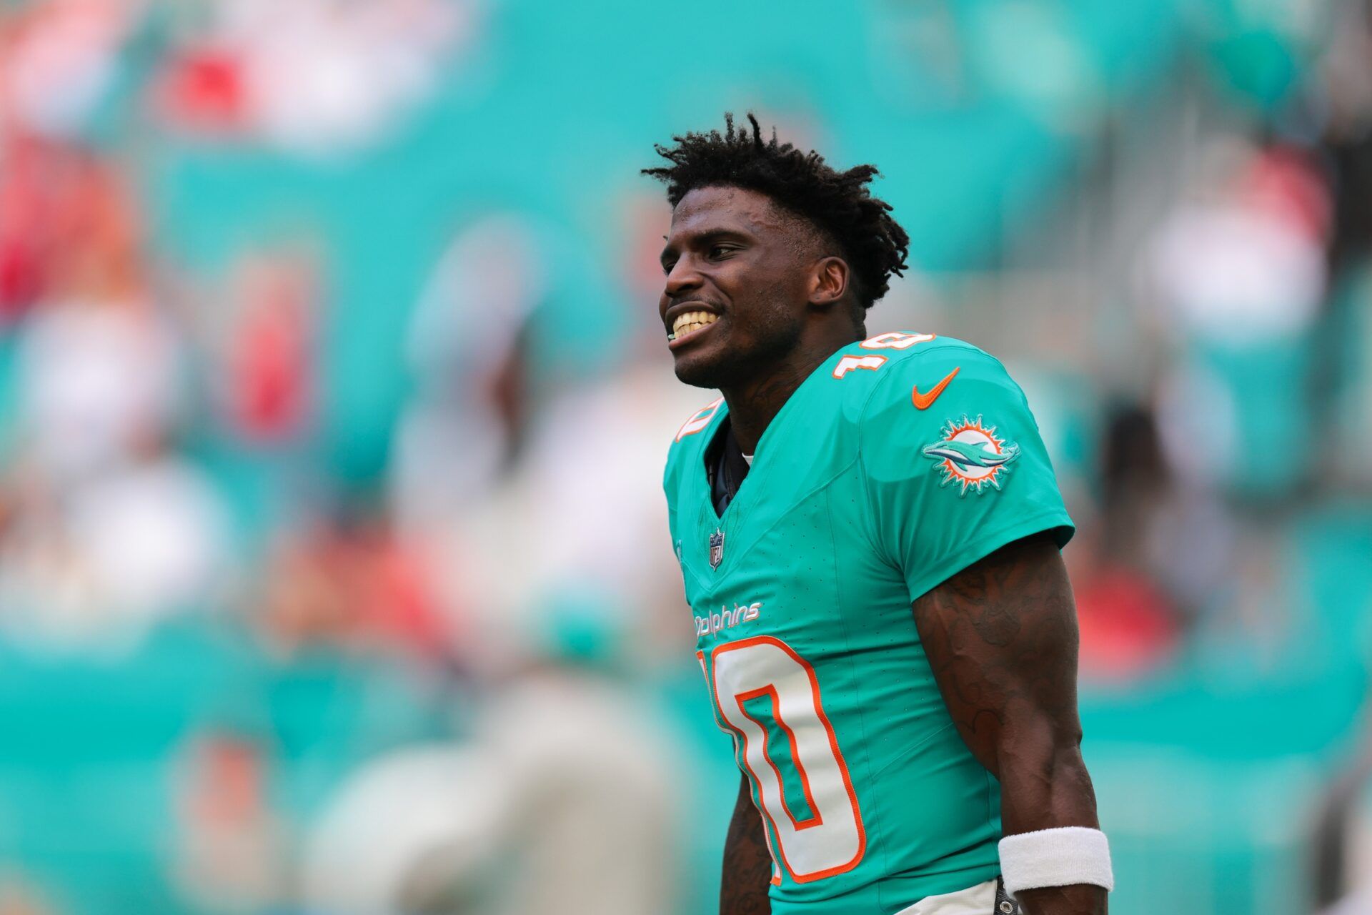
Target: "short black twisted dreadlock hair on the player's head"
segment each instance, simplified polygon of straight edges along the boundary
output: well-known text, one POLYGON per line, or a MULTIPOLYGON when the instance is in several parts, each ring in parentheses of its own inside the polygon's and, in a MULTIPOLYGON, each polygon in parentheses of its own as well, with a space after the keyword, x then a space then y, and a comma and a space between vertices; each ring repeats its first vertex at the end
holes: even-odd
POLYGON ((789 143, 763 140, 752 114, 753 129, 734 128, 724 114, 724 133, 687 133, 672 137, 675 147, 654 144, 671 162, 643 169, 667 184, 667 200, 676 206, 697 188, 733 187, 766 193, 778 206, 809 221, 836 243, 852 268, 855 294, 863 309, 886 295, 890 274, 901 276, 910 254, 910 236, 890 217, 890 204, 871 196, 867 184, 877 166, 859 165, 837 171, 818 152, 801 152, 789 143))

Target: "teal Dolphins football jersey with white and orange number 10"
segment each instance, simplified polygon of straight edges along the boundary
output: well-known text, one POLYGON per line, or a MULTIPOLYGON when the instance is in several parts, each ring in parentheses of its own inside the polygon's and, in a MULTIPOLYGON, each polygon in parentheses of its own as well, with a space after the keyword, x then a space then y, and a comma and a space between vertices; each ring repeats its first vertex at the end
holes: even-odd
POLYGON ((1000 793, 959 738, 911 601, 1000 546, 1072 536, 999 361, 929 333, 834 353, 757 444, 723 517, 690 417, 664 488, 697 657, 752 783, 772 912, 896 912, 999 871, 1000 793))

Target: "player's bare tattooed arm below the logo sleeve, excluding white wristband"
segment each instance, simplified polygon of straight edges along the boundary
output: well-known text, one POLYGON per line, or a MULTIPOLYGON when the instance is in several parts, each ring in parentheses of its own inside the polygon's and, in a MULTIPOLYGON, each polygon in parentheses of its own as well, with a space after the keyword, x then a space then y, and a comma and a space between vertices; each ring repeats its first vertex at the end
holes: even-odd
MULTIPOLYGON (((1000 781, 1006 835, 1099 829, 1077 717, 1077 616, 1048 535, 1004 546, 914 604, 958 733, 1000 781)), ((1017 894, 1026 915, 1102 915, 1099 886, 1017 894)))

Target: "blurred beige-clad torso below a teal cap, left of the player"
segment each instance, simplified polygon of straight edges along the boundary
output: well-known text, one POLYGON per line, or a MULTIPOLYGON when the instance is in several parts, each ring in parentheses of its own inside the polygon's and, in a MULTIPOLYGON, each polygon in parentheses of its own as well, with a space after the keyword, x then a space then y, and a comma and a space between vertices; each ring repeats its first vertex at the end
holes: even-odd
POLYGON ((671 912, 685 774, 632 690, 549 667, 519 678, 483 719, 482 744, 516 789, 516 868, 493 912, 671 912))

